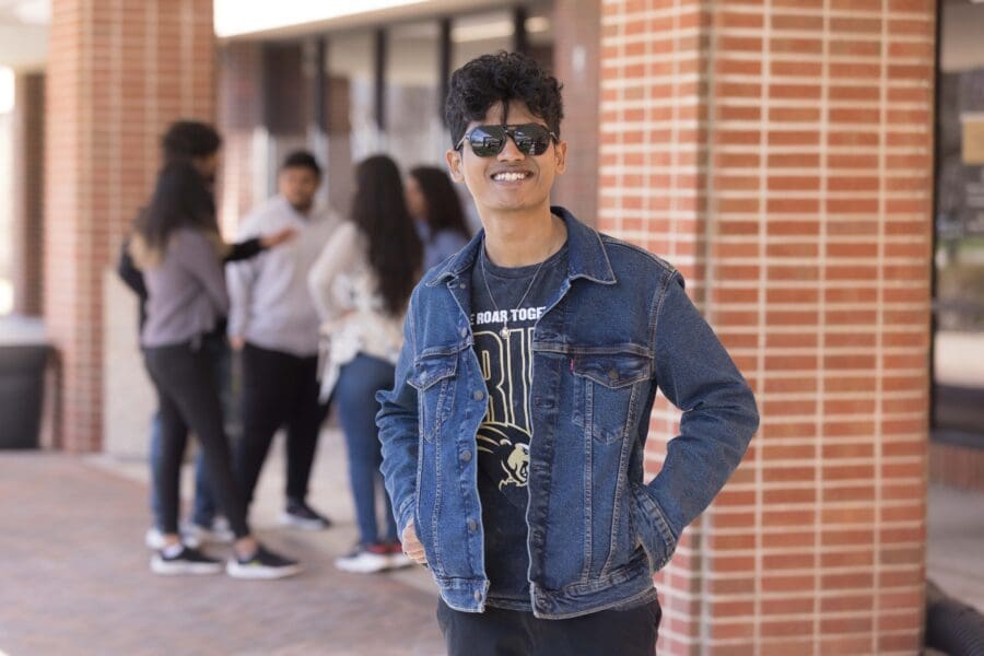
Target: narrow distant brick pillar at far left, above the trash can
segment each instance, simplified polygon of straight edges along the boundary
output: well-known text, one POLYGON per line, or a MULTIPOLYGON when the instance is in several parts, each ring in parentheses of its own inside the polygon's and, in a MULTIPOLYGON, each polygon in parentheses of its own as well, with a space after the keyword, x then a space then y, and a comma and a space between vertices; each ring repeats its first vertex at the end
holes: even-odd
POLYGON ((14 314, 42 313, 45 75, 17 73, 13 116, 14 314))

